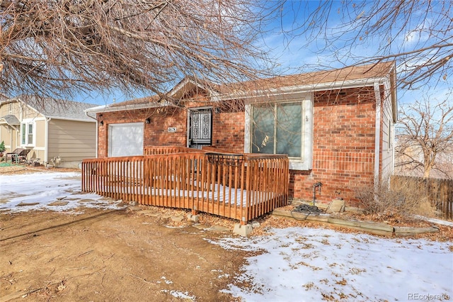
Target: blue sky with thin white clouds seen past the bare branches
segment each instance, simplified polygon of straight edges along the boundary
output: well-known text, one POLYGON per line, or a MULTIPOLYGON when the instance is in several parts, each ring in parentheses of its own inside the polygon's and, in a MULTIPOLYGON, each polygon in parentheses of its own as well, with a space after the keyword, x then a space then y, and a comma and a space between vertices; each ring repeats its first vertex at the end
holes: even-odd
MULTIPOLYGON (((270 1, 270 4, 275 3, 278 2, 270 1)), ((431 9, 418 7, 409 19, 401 15, 391 23, 384 23, 383 27, 391 26, 391 31, 376 30, 373 33, 369 33, 369 29, 359 21, 372 13, 374 1, 363 3, 366 5, 358 7, 352 2, 343 6, 343 1, 333 1, 332 6, 328 7, 328 13, 323 14, 325 18, 310 23, 309 27, 312 28, 307 30, 304 21, 319 7, 319 2, 286 1, 274 15, 273 22, 266 26, 257 45, 277 62, 277 74, 295 74, 354 65, 375 55, 411 52, 442 40, 442 37, 432 38, 429 34, 431 27, 442 30, 439 28, 439 15, 436 12, 436 9, 442 8, 436 1, 431 9), (348 33, 345 34, 346 31, 348 33), (385 47, 386 43, 382 41, 389 39, 392 39, 391 47, 385 47)), ((442 22, 440 24, 442 25, 442 22)), ((445 33, 445 37, 452 35, 451 31, 452 29, 445 33)), ((434 55, 433 52, 434 50, 427 50, 423 52, 423 56, 411 57, 405 62, 397 60, 398 72, 402 74, 403 69, 410 70, 407 65, 423 64, 434 55)), ((432 79, 423 81, 415 89, 398 89, 398 102, 411 103, 421 98, 437 101, 448 98, 453 102, 452 86, 452 79, 442 79, 439 74, 435 74, 432 79)), ((144 95, 140 94, 136 97, 142 96, 144 95)), ((125 96, 122 93, 95 92, 89 98, 81 95, 78 101, 93 102, 95 99, 96 104, 103 105, 111 104, 114 99, 120 102, 133 98, 133 95, 125 96)))

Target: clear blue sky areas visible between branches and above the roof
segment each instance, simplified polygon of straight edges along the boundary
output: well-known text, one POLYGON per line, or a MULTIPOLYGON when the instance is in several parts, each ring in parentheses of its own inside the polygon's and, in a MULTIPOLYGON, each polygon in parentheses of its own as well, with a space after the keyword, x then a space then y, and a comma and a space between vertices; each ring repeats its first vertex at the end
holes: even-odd
MULTIPOLYGON (((323 19, 325 23, 322 24, 322 27, 325 30, 322 30, 315 38, 304 35, 303 21, 306 20, 306 9, 312 11, 316 9, 318 4, 318 1, 287 1, 282 6, 280 17, 275 18, 275 21, 268 25, 263 38, 257 41, 260 48, 268 52, 270 57, 275 58, 280 67, 279 74, 296 74, 317 69, 340 68, 354 65, 360 60, 366 60, 367 57, 383 53, 379 52, 379 46, 382 45, 382 40, 389 38, 384 33, 368 35, 364 40, 356 39, 352 47, 344 47, 348 44, 345 40, 354 39, 355 35, 360 35, 358 28, 357 30, 354 28, 356 26, 354 22, 346 27, 346 29, 352 28, 348 35, 340 35, 341 30, 345 29, 344 22, 354 21, 351 19, 354 16, 357 16, 358 20, 362 15, 361 11, 354 11, 352 4, 345 8, 341 1, 333 1, 328 18, 323 19), (310 41, 310 43, 307 44, 307 41, 310 41)), ((363 11, 365 15, 368 13, 367 9, 371 10, 371 5, 371 1, 367 2, 363 11)), ((391 32, 394 44, 392 44, 391 49, 386 50, 387 53, 407 52, 436 42, 430 41, 425 29, 438 16, 435 16, 434 13, 425 15, 425 11, 428 10, 424 9, 422 6, 417 12, 413 13, 413 17, 408 20, 410 22, 407 28, 401 33, 397 33, 398 24, 396 26, 391 24, 391 26, 394 26, 394 30, 391 32)), ((405 21, 403 16, 399 16, 396 20, 397 23, 405 21)), ((451 33, 447 33, 447 35, 451 35, 451 33)), ((409 62, 416 65, 423 60, 425 60, 423 57, 415 57, 409 62)), ((398 72, 403 66, 401 63, 401 61, 397 61, 398 72)), ((398 103, 410 103, 421 98, 442 101, 446 97, 453 101, 452 86, 452 79, 448 77, 442 79, 437 75, 430 81, 423 82, 414 90, 398 89, 398 103)), ((125 95, 120 91, 110 94, 93 92, 91 95, 81 94, 76 100, 103 105, 142 96, 144 96, 142 93, 125 95)))

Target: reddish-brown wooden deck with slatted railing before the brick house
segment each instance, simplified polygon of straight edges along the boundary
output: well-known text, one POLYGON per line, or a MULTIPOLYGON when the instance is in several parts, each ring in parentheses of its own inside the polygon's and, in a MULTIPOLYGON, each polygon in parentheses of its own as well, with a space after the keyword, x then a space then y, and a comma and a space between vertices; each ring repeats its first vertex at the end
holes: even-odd
POLYGON ((82 162, 82 191, 241 223, 285 206, 288 184, 286 155, 146 147, 143 156, 82 162))

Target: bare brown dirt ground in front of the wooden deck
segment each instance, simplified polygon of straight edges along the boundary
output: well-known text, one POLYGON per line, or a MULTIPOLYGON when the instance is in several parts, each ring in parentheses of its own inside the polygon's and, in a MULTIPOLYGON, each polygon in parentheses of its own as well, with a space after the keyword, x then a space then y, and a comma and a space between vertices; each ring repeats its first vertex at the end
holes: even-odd
MULTIPOLYGON (((207 239, 232 233, 206 230, 232 228, 234 220, 202 214, 200 228, 172 219, 187 213, 174 209, 80 212, 0 213, 0 302, 240 301, 221 290, 252 254, 210 244, 207 239)), ((260 223, 254 235, 267 226, 326 227, 275 216, 260 223)), ((450 241, 452 229, 418 237, 450 241)))

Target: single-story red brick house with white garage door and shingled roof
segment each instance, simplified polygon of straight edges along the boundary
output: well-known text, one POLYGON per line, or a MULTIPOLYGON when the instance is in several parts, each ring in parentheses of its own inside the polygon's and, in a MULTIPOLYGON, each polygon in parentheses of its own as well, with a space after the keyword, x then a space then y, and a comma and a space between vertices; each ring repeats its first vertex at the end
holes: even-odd
POLYGON ((394 167, 394 62, 231 85, 184 79, 169 93, 90 108, 98 157, 142 155, 148 145, 212 146, 289 155, 289 196, 343 198, 394 167), (176 101, 174 101, 176 100, 176 101))

